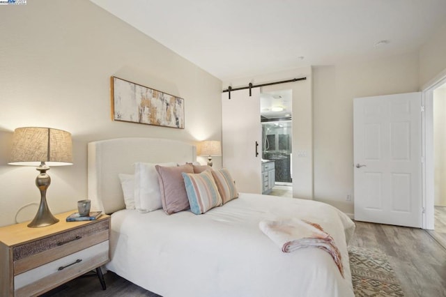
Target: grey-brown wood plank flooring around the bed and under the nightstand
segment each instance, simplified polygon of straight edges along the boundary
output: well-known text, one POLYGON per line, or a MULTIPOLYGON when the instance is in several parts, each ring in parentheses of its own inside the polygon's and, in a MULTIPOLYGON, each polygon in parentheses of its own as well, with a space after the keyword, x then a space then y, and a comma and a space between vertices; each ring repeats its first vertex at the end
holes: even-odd
MULTIPOLYGON (((438 240, 446 238, 445 222, 446 208, 438 207, 436 231, 355 222, 351 245, 383 250, 406 297, 446 297, 446 245, 438 240)), ((72 280, 45 296, 158 296, 112 272, 105 274, 105 281, 106 291, 102 291, 96 277, 89 277, 72 280)))

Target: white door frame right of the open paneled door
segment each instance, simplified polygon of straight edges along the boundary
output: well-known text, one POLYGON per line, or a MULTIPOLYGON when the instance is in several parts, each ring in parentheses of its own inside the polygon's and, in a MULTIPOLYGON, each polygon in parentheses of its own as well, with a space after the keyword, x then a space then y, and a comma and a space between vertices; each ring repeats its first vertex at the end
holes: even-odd
POLYGON ((446 69, 422 87, 422 228, 434 229, 433 91, 446 83, 446 69))

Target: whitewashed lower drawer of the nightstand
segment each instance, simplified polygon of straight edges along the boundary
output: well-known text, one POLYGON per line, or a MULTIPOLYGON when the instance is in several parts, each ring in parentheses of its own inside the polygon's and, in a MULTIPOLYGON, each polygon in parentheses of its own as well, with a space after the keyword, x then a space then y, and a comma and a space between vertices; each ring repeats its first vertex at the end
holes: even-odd
POLYGON ((90 271, 109 259, 109 242, 104 241, 85 250, 38 266, 14 277, 15 296, 33 296, 48 284, 62 284, 73 276, 90 271))

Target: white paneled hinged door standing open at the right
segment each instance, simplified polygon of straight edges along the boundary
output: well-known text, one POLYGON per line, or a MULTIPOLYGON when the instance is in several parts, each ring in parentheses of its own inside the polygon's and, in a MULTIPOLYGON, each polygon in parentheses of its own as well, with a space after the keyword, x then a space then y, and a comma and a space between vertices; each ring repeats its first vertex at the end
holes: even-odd
POLYGON ((355 220, 422 226, 421 93, 353 101, 355 220))

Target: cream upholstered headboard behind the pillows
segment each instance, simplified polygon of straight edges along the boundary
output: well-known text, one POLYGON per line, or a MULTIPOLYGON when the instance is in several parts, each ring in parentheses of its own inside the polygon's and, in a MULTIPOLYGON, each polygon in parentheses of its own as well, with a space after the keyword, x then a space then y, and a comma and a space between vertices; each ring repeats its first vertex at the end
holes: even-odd
POLYGON ((134 162, 194 162, 194 145, 171 139, 117 138, 90 142, 88 183, 91 209, 114 213, 125 208, 118 174, 133 174, 134 162))

